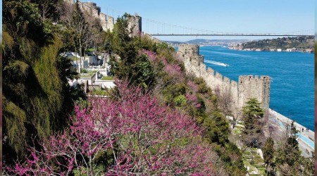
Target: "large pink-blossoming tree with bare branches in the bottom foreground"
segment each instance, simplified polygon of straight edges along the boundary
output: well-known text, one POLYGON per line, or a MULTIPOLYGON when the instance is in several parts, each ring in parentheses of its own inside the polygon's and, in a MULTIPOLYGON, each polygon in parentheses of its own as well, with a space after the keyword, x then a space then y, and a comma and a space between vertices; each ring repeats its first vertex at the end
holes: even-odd
MULTIPOLYGON (((6 168, 15 175, 213 175, 216 154, 203 142, 188 115, 160 106, 139 87, 116 81, 113 99, 89 99, 76 106, 69 130, 30 147, 24 163, 6 168), (96 172, 95 158, 111 151, 113 163, 96 172)), ((194 101, 194 100, 193 100, 194 101)))

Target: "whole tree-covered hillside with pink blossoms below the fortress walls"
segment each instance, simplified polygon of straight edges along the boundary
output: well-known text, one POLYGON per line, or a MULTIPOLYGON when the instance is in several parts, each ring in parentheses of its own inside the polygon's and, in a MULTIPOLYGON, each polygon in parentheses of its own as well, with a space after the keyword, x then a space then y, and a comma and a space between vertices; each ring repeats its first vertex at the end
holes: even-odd
POLYGON ((264 112, 254 99, 242 112, 243 134, 232 136, 230 97, 185 74, 173 47, 131 37, 129 14, 104 32, 78 4, 40 2, 47 6, 4 1, 4 174, 246 175, 242 153, 254 146, 266 149, 271 175, 313 173, 295 131, 275 148, 263 139, 264 112), (106 97, 87 98, 68 84, 79 70, 61 53, 91 46, 113 51, 116 88, 106 97))

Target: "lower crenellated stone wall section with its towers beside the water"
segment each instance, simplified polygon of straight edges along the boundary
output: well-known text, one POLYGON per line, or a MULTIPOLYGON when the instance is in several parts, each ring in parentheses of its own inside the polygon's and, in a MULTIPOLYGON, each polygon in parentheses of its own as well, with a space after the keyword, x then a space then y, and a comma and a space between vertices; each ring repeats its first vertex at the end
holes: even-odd
POLYGON ((268 111, 270 103, 271 78, 268 76, 239 76, 239 82, 223 77, 212 68, 206 70, 204 56, 199 55, 199 45, 180 44, 178 55, 182 57, 186 73, 202 77, 206 84, 214 90, 216 87, 220 94, 230 94, 232 103, 230 111, 235 117, 241 117, 242 107, 250 98, 256 98, 261 103, 261 108, 268 111))

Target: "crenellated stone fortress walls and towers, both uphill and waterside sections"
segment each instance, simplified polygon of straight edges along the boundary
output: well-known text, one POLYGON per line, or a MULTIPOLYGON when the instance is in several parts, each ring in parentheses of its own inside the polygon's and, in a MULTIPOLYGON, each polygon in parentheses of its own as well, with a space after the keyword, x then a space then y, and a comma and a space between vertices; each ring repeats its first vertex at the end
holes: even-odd
MULTIPOLYGON (((75 3, 74 0, 64 0, 68 3, 75 3)), ((87 11, 95 18, 99 18, 103 30, 113 30, 113 17, 101 13, 101 8, 92 2, 80 2, 80 8, 87 11)), ((128 27, 132 30, 132 36, 142 34, 142 18, 134 15, 129 19, 128 27)), ((264 111, 268 111, 270 102, 271 78, 268 76, 244 75, 235 82, 228 77, 224 77, 212 68, 206 70, 204 56, 199 55, 199 45, 180 44, 178 46, 178 55, 182 56, 185 70, 196 77, 202 77, 211 89, 220 90, 220 93, 229 93, 232 97, 231 112, 235 117, 240 117, 239 112, 250 98, 256 98, 261 103, 264 111)))

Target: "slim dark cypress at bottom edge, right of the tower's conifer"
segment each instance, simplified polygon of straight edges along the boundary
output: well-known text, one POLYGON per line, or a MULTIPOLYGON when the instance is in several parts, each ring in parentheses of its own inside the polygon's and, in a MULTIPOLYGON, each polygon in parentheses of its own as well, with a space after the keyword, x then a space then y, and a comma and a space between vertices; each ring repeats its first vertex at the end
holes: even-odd
POLYGON ((273 164, 274 161, 274 141, 272 137, 268 137, 266 139, 266 144, 264 144, 263 148, 263 158, 264 158, 264 163, 266 163, 266 175, 270 172, 270 167, 273 164))

